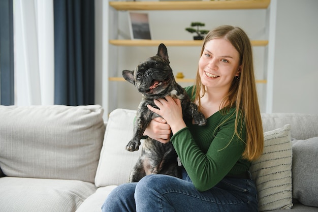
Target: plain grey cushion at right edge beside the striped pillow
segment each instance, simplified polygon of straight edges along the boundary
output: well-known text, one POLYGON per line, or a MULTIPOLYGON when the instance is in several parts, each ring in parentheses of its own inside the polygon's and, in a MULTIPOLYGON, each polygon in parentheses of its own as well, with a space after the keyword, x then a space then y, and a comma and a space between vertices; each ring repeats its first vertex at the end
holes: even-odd
POLYGON ((318 137, 292 142, 293 198, 318 207, 318 137))

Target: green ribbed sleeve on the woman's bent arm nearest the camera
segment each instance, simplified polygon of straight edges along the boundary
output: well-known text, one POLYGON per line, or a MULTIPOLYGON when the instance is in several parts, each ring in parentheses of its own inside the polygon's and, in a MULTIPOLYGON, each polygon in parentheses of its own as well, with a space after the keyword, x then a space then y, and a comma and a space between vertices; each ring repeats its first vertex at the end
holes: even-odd
MULTIPOLYGON (((241 158, 245 143, 235 135, 234 123, 235 115, 232 115, 217 130, 203 132, 208 134, 202 135, 203 137, 210 137, 212 140, 206 153, 200 149, 200 141, 195 141, 188 127, 172 136, 171 142, 181 163, 199 191, 215 186, 241 158)), ((245 137, 242 138, 245 140, 245 137)))

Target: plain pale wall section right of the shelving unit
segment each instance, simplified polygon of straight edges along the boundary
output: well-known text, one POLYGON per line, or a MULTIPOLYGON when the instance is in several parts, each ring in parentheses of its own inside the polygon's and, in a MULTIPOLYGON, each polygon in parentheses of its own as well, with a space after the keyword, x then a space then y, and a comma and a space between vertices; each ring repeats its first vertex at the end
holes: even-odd
POLYGON ((273 112, 317 113, 318 1, 277 1, 273 112))

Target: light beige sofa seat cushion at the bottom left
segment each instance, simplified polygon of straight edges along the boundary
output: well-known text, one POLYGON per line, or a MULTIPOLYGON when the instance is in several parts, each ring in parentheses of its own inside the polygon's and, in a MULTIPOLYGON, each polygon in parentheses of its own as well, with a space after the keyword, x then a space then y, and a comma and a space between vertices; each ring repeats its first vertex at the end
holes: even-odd
POLYGON ((92 183, 79 180, 0 178, 0 211, 75 211, 96 191, 92 183))

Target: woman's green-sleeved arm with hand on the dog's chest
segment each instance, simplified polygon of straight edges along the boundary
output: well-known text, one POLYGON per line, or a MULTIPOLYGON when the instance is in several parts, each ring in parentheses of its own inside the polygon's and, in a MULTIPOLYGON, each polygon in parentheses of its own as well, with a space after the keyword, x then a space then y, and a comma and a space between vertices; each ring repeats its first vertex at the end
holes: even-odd
MULTIPOLYGON (((171 142, 195 187, 199 191, 206 191, 215 186, 241 158, 245 149, 243 142, 245 141, 245 128, 241 132, 242 141, 235 134, 236 116, 229 113, 222 116, 225 122, 217 130, 214 130, 215 125, 205 131, 202 129, 209 126, 197 128, 196 130, 200 131, 200 137, 197 139, 201 140, 195 141, 183 121, 180 100, 168 96, 165 99, 154 100, 154 102, 159 109, 151 106, 148 108, 160 114, 170 125, 173 133, 171 142), (203 142, 208 142, 208 147, 204 152, 198 145, 198 143, 202 145, 203 142)), ((241 123, 238 129, 241 129, 241 123)))

